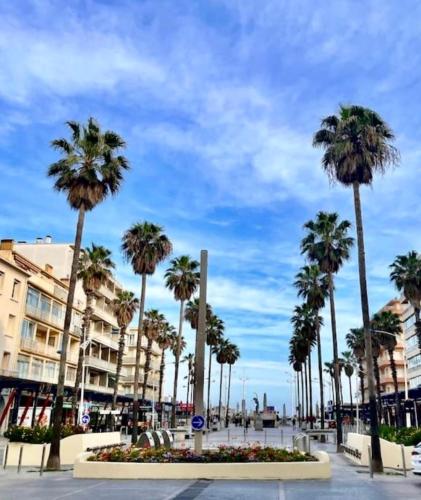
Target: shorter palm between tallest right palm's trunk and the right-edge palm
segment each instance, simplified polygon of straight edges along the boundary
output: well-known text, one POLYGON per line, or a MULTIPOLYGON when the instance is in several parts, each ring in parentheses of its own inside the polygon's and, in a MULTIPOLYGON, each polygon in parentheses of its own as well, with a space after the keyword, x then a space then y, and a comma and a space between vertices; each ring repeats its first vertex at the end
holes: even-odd
POLYGON ((373 316, 373 319, 371 320, 371 326, 376 331, 379 337, 380 344, 387 350, 387 353, 389 355, 393 387, 395 390, 396 423, 400 427, 402 425, 402 417, 394 351, 397 345, 397 339, 402 333, 401 320, 399 316, 392 311, 382 311, 376 313, 373 316))

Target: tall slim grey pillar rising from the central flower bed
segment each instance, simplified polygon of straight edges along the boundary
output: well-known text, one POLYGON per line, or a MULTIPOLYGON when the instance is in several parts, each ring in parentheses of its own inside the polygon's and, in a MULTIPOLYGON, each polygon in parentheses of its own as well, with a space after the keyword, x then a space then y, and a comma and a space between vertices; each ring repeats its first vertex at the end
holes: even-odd
MULTIPOLYGON (((200 293, 199 293, 199 320, 196 333, 196 351, 194 363, 194 411, 196 422, 205 424, 203 414, 203 385, 205 382, 205 342, 206 342, 206 288, 208 276, 208 251, 200 252, 200 293)), ((192 419, 193 427, 193 419, 192 419)), ((194 427, 193 427, 194 429, 194 427)), ((194 450, 199 455, 202 453, 203 435, 201 429, 197 429, 194 435, 194 450)))

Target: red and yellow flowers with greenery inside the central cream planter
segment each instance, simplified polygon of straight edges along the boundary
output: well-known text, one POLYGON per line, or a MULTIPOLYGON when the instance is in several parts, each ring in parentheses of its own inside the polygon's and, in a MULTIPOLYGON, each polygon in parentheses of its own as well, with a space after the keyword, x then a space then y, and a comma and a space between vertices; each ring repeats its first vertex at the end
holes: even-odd
POLYGON ((116 447, 101 451, 88 458, 90 462, 124 463, 250 463, 250 462, 315 462, 317 459, 308 453, 287 451, 279 448, 248 448, 220 446, 217 450, 205 450, 198 455, 193 450, 140 449, 135 447, 116 447))

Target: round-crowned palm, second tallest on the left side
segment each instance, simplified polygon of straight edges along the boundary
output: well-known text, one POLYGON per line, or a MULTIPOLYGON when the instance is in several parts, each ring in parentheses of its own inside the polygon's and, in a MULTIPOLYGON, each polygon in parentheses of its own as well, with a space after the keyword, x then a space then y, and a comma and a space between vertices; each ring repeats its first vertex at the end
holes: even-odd
POLYGON ((142 352, 143 315, 145 311, 146 278, 154 274, 156 267, 172 252, 172 244, 164 234, 164 228, 151 222, 137 222, 123 235, 122 251, 135 274, 141 276, 139 322, 137 327, 136 359, 133 383, 133 432, 132 443, 137 441, 139 420, 139 375, 142 352))

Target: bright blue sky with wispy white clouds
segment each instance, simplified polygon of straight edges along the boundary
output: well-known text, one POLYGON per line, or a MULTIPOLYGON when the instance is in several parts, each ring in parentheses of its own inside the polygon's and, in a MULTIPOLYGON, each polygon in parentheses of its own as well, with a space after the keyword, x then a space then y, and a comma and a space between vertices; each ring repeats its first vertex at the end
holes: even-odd
MULTIPOLYGON (((45 177, 49 141, 89 116, 119 132, 132 169, 89 214, 84 244, 111 248, 133 291, 119 254, 133 222, 162 224, 175 255, 209 250, 209 302, 242 354, 234 402, 245 376, 248 400, 266 390, 290 403, 302 225, 321 209, 353 221, 351 192, 329 186, 311 146, 339 103, 377 110, 397 136, 401 165, 362 194, 371 311, 396 295, 387 266, 421 246, 421 4, 39 0, 2 2, 0 15, 1 236, 71 241, 75 214, 45 177)), ((147 305, 176 324, 164 270, 147 305)), ((355 255, 337 279, 337 315, 343 349, 361 322, 355 255)), ((325 328, 326 360, 329 339, 325 328)))

